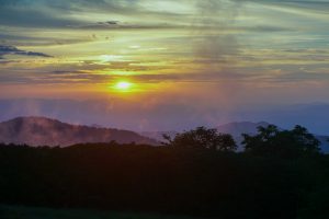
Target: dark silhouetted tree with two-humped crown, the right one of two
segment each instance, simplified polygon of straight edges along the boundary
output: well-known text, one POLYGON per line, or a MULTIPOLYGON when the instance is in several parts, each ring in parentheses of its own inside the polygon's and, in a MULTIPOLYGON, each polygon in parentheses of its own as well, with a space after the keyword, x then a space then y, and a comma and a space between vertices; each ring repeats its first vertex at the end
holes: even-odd
POLYGON ((295 126, 292 130, 280 130, 274 125, 258 127, 258 134, 242 134, 246 151, 256 154, 296 158, 302 154, 317 154, 320 141, 305 127, 295 126))

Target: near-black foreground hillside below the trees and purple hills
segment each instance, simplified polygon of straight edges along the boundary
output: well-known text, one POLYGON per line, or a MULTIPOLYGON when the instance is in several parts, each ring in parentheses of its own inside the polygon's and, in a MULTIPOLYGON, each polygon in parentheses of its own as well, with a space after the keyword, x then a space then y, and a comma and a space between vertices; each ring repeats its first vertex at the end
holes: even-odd
POLYGON ((216 218, 328 218, 329 158, 170 147, 0 147, 0 201, 216 218))

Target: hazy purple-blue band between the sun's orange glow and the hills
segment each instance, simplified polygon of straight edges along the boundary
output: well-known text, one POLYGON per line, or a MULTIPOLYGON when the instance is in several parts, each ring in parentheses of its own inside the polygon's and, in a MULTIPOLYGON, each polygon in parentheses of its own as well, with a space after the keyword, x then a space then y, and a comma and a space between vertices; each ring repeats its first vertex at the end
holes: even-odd
POLYGON ((43 116, 70 124, 98 124, 126 130, 152 131, 183 130, 202 124, 215 127, 218 124, 248 119, 264 120, 285 129, 298 124, 313 134, 329 136, 329 103, 247 104, 212 111, 202 108, 180 102, 154 105, 114 97, 0 99, 0 122, 19 116, 43 116))

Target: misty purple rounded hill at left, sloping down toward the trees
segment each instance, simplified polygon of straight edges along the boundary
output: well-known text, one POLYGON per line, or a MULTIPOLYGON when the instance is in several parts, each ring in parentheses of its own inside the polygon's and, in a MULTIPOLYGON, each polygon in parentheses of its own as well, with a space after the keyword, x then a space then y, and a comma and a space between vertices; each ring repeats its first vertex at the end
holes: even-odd
POLYGON ((16 117, 0 123, 0 142, 30 146, 70 146, 86 142, 158 145, 131 130, 71 125, 46 117, 16 117))

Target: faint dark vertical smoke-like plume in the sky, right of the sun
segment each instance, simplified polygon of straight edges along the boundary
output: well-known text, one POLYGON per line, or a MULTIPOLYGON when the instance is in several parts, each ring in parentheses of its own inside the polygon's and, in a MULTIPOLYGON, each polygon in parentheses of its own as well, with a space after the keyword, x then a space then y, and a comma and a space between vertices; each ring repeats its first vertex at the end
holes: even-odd
POLYGON ((205 61, 205 72, 227 74, 228 68, 234 67, 234 57, 239 54, 239 42, 231 31, 239 14, 240 3, 203 0, 196 1, 195 8, 192 25, 200 36, 194 42, 195 59, 205 61))

